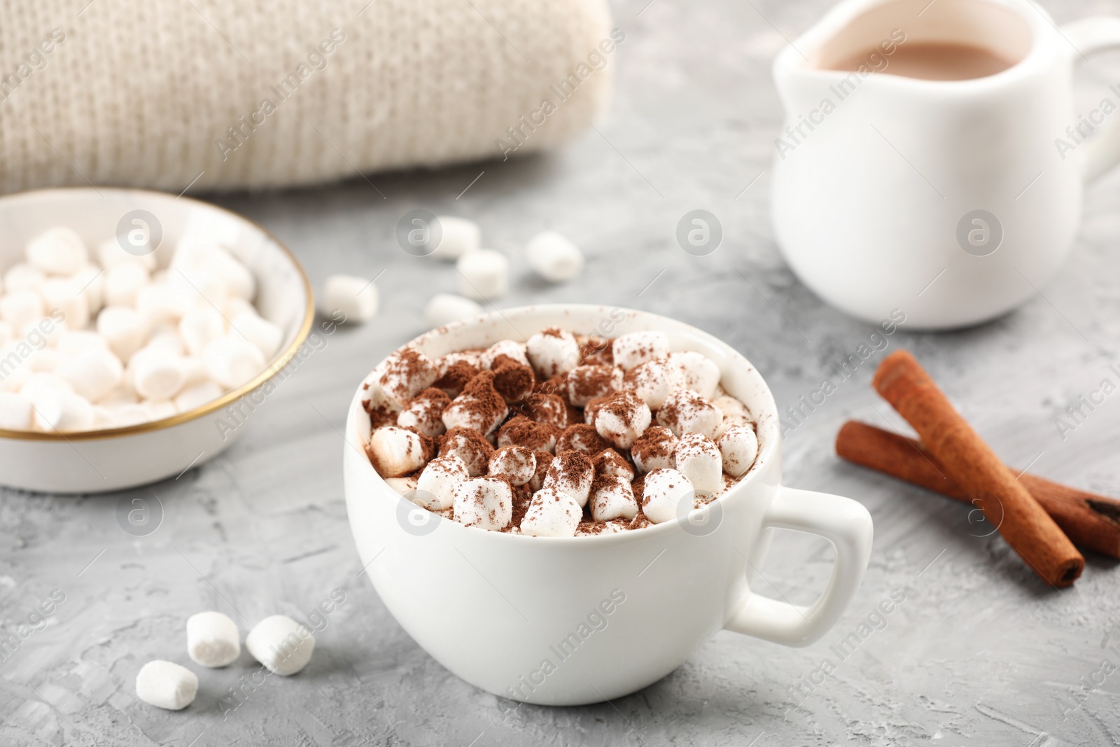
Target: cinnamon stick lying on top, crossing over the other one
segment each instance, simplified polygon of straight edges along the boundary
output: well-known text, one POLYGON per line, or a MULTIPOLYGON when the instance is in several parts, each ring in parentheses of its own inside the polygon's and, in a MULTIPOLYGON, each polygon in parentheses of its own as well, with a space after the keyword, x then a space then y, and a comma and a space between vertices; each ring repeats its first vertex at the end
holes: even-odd
POLYGON ((942 471, 951 477, 984 517, 1044 580, 1070 586, 1085 559, 1015 478, 983 439, 953 409, 944 393, 906 351, 895 351, 879 364, 876 391, 922 437, 942 471))

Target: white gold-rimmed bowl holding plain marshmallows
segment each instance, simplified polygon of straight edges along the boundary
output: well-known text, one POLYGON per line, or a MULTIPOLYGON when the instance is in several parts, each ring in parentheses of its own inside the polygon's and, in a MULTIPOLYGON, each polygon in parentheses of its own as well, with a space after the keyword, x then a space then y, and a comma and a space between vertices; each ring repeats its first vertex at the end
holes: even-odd
POLYGON ((93 252, 118 234, 122 217, 137 209, 147 211, 160 224, 162 239, 156 256, 161 265, 167 264, 188 222, 221 234, 256 278, 255 304, 261 316, 283 329, 280 352, 244 386, 162 420, 73 433, 0 429, 0 483, 4 485, 50 493, 100 493, 152 483, 214 458, 243 432, 242 424, 248 421, 244 417, 231 420, 227 409, 248 413, 259 407, 258 390, 292 358, 311 328, 311 287, 291 252, 252 222, 188 197, 109 187, 41 189, 0 197, 0 269, 21 261, 28 240, 57 225, 77 231, 93 252), (242 405, 246 398, 252 399, 242 405))

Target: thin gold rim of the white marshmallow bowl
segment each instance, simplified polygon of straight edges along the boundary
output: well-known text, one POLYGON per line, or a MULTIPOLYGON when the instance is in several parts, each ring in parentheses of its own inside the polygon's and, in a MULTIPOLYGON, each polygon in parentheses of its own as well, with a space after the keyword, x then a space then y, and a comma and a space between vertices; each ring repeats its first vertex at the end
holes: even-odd
MULTIPOLYGON (((92 193, 93 190, 88 187, 58 187, 53 189, 31 189, 27 192, 13 193, 11 195, 4 195, 0 199, 7 199, 9 197, 25 197, 28 195, 47 195, 52 193, 77 193, 77 192, 92 193)), ((288 260, 291 261, 292 267, 296 268, 296 272, 299 273, 299 279, 304 283, 304 293, 307 297, 307 305, 304 309, 304 321, 300 325, 299 332, 296 333, 296 336, 292 338, 288 347, 286 347, 283 352, 279 354, 278 357, 273 358, 272 363, 265 366, 265 368, 254 379, 252 379, 245 384, 242 384, 232 392, 227 392, 222 396, 220 396, 218 399, 212 402, 207 402, 206 404, 202 404, 193 410, 187 410, 186 412, 178 412, 171 415, 170 418, 161 418, 160 420, 152 420, 149 422, 137 423, 134 426, 125 426, 123 428, 103 428, 101 430, 82 430, 82 431, 66 431, 66 432, 56 430, 55 432, 47 433, 43 431, 7 430, 0 428, 0 438, 10 438, 22 441, 88 441, 88 440, 104 439, 104 438, 116 438, 120 436, 138 436, 140 433, 162 430, 165 428, 172 428, 175 426, 185 423, 188 420, 195 420, 196 418, 202 418, 203 415, 207 415, 212 412, 217 412, 227 404, 240 400, 244 395, 255 390, 258 386, 264 384, 264 382, 269 381, 278 373, 280 373, 280 371, 286 365, 288 365, 288 363, 293 357, 296 357, 296 353, 299 351, 300 346, 307 339, 308 334, 311 332, 311 325, 315 323, 315 295, 311 291, 311 281, 308 279, 307 272, 304 271, 304 267, 299 263, 299 260, 296 259, 296 255, 292 253, 292 251, 288 249, 288 246, 282 241, 277 239, 277 236, 273 235, 272 232, 265 228, 264 226, 255 223, 254 221, 250 221, 245 216, 234 213, 233 211, 228 211, 224 207, 221 207, 220 205, 214 205, 213 203, 205 203, 200 199, 194 199, 192 197, 175 197, 170 193, 166 192, 157 192, 155 189, 125 189, 125 188, 113 188, 113 187, 99 187, 97 192, 115 193, 115 194, 141 194, 141 195, 157 196, 157 197, 172 197, 177 200, 185 199, 189 203, 195 203, 197 205, 202 205, 209 209, 220 211, 222 213, 225 213, 226 215, 236 218, 237 221, 243 221, 244 223, 248 223, 249 225, 253 226, 262 234, 264 234, 268 239, 270 239, 277 246, 279 246, 281 252, 288 255, 288 260)))

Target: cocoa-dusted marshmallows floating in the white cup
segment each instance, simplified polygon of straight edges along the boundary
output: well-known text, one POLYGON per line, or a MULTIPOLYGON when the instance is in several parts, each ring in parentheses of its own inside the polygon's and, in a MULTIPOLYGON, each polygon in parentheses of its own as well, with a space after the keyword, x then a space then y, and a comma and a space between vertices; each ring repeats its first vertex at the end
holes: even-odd
POLYGON ((754 465, 755 424, 704 355, 661 332, 551 328, 435 361, 410 347, 371 377, 370 461, 413 503, 534 536, 687 516, 754 465))

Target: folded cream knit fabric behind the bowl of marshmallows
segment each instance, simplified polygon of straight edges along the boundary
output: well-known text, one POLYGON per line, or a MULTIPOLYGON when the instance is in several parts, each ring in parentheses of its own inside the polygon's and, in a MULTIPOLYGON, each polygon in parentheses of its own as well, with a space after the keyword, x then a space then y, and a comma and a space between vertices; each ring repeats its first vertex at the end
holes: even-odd
POLYGON ((625 38, 605 0, 7 0, 0 192, 520 156, 592 121, 625 38))

